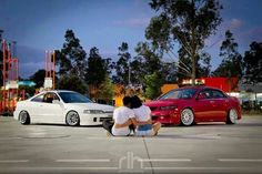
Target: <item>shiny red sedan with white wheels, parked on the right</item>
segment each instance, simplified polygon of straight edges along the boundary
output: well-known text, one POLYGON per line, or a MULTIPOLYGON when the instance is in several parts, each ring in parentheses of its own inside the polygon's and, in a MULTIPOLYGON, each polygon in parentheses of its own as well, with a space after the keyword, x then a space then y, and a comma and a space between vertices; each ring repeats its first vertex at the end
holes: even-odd
POLYGON ((236 98, 208 86, 175 89, 144 104, 152 111, 152 121, 162 124, 192 125, 199 122, 234 124, 241 119, 241 108, 236 98))

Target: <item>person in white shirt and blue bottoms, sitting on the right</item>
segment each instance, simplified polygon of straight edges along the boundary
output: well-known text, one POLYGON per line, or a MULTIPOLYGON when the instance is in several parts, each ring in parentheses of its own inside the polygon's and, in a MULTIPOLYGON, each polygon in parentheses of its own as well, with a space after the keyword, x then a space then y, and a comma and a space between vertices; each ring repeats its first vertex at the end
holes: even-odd
POLYGON ((141 100, 137 95, 132 98, 132 110, 138 122, 148 122, 148 124, 137 126, 135 135, 157 135, 161 127, 161 123, 157 122, 152 124, 150 108, 143 105, 141 100))

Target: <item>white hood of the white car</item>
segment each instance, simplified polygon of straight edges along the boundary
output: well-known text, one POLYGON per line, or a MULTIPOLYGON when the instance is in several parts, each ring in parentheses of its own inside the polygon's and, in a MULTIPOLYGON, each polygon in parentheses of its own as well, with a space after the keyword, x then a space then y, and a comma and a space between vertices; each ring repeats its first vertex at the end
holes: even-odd
POLYGON ((98 103, 67 103, 67 106, 78 108, 82 110, 102 110, 105 112, 113 112, 114 106, 108 104, 98 104, 98 103))

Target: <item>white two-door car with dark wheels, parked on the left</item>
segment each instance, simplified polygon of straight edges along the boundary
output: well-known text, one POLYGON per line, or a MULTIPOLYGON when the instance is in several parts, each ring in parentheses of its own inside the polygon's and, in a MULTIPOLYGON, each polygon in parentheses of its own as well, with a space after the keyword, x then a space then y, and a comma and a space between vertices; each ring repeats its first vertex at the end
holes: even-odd
POLYGON ((104 119, 112 119, 113 110, 73 91, 46 91, 18 102, 13 117, 21 124, 101 125, 104 119))

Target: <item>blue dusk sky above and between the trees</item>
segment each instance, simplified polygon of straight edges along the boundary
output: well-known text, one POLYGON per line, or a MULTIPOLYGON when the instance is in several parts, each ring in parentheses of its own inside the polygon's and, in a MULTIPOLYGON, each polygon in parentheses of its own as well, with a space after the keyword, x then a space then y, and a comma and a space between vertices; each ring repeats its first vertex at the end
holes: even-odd
MULTIPOLYGON (((206 40, 212 70, 221 59, 219 49, 225 30, 231 30, 240 53, 252 41, 262 42, 262 0, 220 0, 223 22, 206 40)), ((44 66, 44 50, 61 49, 67 29, 72 29, 87 53, 97 47, 103 58, 117 59, 118 47, 145 41, 144 30, 157 13, 147 0, 0 0, 0 29, 17 41, 20 76, 28 78, 44 66)))

